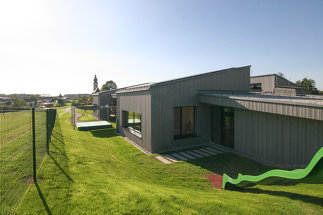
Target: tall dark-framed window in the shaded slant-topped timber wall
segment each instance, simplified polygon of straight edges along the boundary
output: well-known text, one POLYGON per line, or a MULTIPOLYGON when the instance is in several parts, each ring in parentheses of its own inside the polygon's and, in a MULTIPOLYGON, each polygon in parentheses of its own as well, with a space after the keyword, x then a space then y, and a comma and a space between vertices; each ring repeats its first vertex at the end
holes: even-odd
POLYGON ((174 138, 195 136, 195 107, 174 108, 174 138))

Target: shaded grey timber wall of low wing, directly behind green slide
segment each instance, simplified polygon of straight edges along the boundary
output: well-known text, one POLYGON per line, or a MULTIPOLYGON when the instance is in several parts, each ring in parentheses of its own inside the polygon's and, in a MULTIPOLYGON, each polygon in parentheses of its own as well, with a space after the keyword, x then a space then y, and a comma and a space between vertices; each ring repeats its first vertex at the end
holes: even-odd
POLYGON ((323 147, 323 122, 235 109, 235 151, 281 167, 305 167, 323 147))

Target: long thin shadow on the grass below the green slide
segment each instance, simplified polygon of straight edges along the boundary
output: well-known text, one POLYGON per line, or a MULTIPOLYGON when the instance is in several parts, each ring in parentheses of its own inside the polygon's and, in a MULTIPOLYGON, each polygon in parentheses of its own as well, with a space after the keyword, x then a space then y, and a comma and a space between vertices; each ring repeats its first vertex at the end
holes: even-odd
POLYGON ((262 190, 259 188, 237 188, 236 191, 243 192, 243 193, 267 194, 272 196, 287 197, 292 200, 299 200, 305 203, 311 203, 311 204, 323 206, 323 198, 316 197, 316 196, 309 196, 309 195, 303 195, 303 194, 286 192, 286 191, 262 190))

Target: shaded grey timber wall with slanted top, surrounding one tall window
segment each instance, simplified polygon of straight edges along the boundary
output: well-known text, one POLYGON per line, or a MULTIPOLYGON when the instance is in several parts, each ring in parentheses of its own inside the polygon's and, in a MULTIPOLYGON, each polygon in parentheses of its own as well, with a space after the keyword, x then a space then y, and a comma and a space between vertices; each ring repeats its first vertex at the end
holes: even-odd
POLYGON ((197 101, 198 90, 248 92, 250 67, 219 71, 211 75, 174 81, 151 87, 152 151, 161 152, 194 146, 210 140, 210 108, 197 101), (174 107, 196 106, 197 137, 174 140, 174 107), (208 111, 207 111, 208 110, 208 111))

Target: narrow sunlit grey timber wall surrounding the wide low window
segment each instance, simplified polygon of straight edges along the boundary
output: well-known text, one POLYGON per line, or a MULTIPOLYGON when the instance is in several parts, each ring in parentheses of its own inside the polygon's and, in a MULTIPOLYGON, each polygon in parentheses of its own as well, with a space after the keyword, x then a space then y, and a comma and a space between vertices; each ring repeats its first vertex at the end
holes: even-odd
POLYGON ((117 94, 117 126, 123 135, 151 151, 151 95, 150 91, 117 94), (141 114, 142 137, 122 127, 122 110, 141 114))

